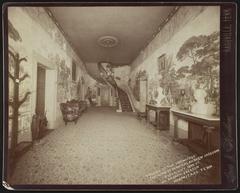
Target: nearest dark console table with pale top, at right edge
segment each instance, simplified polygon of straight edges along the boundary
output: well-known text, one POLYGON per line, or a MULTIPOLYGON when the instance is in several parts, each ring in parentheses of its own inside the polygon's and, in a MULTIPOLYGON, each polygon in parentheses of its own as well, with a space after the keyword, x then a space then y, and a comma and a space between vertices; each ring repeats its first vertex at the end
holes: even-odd
POLYGON ((188 122, 188 138, 186 145, 196 153, 202 154, 219 148, 220 140, 220 119, 219 117, 197 115, 180 110, 171 110, 174 118, 174 140, 181 142, 178 136, 178 120, 182 119, 188 122), (194 132, 203 130, 202 135, 196 140, 193 138, 194 132), (213 136, 213 133, 215 136, 213 136), (217 141, 213 144, 212 139, 217 141), (200 140, 200 143, 199 143, 200 140), (196 143, 198 141, 198 143, 196 143))

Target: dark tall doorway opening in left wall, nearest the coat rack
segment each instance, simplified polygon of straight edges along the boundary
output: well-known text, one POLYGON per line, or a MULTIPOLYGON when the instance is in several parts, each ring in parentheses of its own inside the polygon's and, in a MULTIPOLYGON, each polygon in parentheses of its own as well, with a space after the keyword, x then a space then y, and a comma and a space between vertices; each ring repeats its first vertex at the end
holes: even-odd
POLYGON ((37 65, 37 99, 36 99, 36 114, 45 114, 45 82, 46 82, 46 69, 40 64, 37 65))

